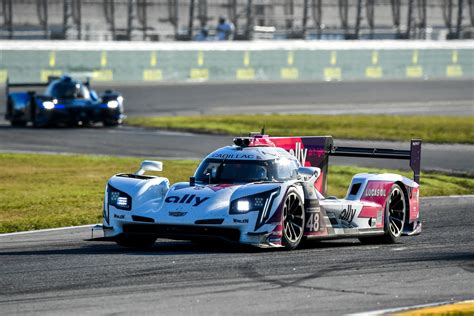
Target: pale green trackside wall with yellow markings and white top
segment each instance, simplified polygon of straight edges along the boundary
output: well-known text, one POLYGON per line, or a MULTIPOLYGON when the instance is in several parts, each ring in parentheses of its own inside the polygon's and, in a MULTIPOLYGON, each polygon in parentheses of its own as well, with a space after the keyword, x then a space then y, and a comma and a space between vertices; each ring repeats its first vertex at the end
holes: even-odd
POLYGON ((474 78, 474 41, 0 41, 0 82, 474 78))

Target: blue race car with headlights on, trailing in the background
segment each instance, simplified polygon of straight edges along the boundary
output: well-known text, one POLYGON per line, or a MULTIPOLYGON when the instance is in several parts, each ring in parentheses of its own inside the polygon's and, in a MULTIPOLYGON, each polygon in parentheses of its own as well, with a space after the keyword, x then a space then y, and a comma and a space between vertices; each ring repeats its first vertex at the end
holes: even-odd
POLYGON ((90 82, 74 80, 70 76, 50 77, 48 83, 6 83, 7 110, 5 119, 12 126, 35 127, 88 125, 102 122, 117 126, 124 119, 123 97, 106 90, 100 97, 90 89, 90 82), (46 87, 44 94, 32 91, 10 92, 12 88, 46 87))

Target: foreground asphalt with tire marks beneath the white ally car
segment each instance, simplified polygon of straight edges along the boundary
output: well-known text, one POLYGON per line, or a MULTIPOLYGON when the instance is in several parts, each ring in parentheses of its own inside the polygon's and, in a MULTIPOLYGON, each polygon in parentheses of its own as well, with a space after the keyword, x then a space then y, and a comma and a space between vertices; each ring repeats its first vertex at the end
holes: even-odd
POLYGON ((340 315, 474 298, 474 196, 422 199, 424 230, 296 251, 158 240, 88 242, 88 228, 0 235, 0 313, 340 315))

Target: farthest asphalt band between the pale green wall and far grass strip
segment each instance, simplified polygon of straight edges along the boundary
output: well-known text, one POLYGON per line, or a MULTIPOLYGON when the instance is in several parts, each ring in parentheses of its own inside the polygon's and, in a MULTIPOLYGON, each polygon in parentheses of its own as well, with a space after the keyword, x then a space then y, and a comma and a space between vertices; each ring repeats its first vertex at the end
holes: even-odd
MULTIPOLYGON (((234 113, 474 115, 473 80, 92 85, 128 115, 234 113)), ((0 89, 0 114, 5 91, 0 89)), ((2 115, 3 116, 3 115, 2 115)))

